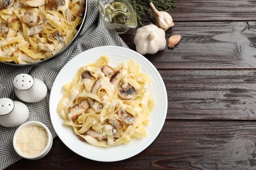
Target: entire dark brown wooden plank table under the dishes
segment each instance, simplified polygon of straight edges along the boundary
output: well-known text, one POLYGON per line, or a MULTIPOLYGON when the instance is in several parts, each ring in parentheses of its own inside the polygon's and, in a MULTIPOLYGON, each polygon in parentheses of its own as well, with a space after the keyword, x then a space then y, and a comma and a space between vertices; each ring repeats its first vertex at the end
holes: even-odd
MULTIPOLYGON (((181 42, 145 56, 168 94, 154 143, 133 158, 104 163, 78 156, 56 137, 45 158, 7 169, 256 169, 256 0, 176 4, 166 39, 181 33, 181 42)), ((135 32, 121 35, 133 50, 135 32)))

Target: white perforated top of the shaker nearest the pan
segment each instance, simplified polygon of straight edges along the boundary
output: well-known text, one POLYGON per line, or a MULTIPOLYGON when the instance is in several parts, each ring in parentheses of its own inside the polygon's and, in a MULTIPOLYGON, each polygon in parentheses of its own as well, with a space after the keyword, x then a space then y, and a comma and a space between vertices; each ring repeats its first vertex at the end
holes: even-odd
POLYGON ((28 90, 33 86, 33 77, 27 74, 15 76, 13 86, 18 90, 28 90))

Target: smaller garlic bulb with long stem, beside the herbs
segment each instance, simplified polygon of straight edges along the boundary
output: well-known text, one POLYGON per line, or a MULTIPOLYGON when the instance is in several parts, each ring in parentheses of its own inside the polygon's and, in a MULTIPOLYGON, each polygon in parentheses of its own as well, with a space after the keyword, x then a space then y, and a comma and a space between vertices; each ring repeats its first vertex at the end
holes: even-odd
POLYGON ((158 9, 156 9, 153 3, 150 3, 150 7, 154 10, 156 14, 156 25, 158 25, 158 27, 161 27, 164 31, 166 31, 174 25, 173 18, 168 12, 158 11, 158 9))

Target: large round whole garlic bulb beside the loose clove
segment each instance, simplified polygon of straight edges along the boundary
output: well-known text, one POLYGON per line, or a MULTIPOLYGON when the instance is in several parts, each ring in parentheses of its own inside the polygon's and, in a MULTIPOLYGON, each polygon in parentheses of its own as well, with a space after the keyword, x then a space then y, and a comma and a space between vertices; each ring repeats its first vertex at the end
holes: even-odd
POLYGON ((144 25, 137 29, 134 42, 140 54, 156 54, 165 49, 165 31, 154 24, 144 25))

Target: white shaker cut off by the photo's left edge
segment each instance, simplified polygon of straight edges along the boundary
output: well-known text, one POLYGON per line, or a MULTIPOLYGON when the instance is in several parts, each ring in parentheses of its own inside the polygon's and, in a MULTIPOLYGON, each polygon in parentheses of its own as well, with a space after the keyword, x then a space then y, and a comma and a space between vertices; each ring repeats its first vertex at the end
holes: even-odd
POLYGON ((0 124, 5 127, 20 126, 28 120, 28 107, 20 101, 0 99, 0 124))

